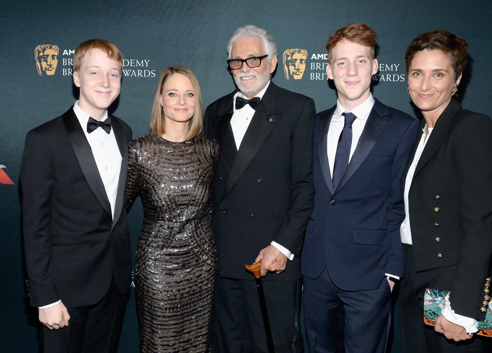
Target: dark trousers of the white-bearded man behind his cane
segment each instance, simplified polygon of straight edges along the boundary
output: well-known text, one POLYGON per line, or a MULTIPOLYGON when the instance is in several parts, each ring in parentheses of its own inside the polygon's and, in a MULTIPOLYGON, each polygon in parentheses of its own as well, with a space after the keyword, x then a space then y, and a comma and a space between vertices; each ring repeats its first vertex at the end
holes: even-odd
MULTIPOLYGON (((301 336, 301 280, 263 281, 276 353, 304 352, 301 336)), ((268 353, 254 280, 217 274, 214 353, 268 353)))

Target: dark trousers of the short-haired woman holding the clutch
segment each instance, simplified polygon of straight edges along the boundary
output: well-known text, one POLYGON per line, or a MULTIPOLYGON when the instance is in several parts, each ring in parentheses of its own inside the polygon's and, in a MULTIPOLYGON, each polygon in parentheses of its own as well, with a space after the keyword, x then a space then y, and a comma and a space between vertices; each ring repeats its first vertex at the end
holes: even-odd
MULTIPOLYGON (((426 288, 448 289, 454 267, 447 266, 417 272, 411 245, 403 244, 405 277, 400 283, 400 330, 403 353, 488 353, 490 338, 474 335, 461 342, 448 340, 434 326, 424 323, 424 291, 426 288)), ((453 303, 451 302, 451 305, 453 303)))

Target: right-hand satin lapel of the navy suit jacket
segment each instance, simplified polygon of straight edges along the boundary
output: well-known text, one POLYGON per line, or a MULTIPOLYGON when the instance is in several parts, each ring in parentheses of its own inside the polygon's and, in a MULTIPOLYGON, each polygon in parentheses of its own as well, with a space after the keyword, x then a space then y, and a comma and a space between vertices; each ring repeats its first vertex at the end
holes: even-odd
POLYGON ((387 109, 384 109, 385 112, 383 113, 386 114, 380 116, 379 114, 381 114, 381 111, 379 111, 379 114, 378 112, 376 112, 376 108, 378 108, 376 106, 377 104, 382 105, 376 100, 374 101, 374 106, 369 113, 366 126, 364 127, 364 130, 362 130, 362 135, 359 138, 359 142, 357 142, 357 147, 355 148, 354 154, 352 155, 352 158, 348 163, 347 170, 345 170, 345 173, 338 183, 338 187, 337 190, 335 190, 335 193, 338 193, 338 191, 343 188, 343 186, 350 180, 352 175, 354 175, 362 162, 369 155, 370 150, 372 150, 372 147, 374 147, 377 139, 383 132, 384 128, 386 128, 386 125, 388 125, 388 122, 393 116, 393 114, 388 114, 387 109))

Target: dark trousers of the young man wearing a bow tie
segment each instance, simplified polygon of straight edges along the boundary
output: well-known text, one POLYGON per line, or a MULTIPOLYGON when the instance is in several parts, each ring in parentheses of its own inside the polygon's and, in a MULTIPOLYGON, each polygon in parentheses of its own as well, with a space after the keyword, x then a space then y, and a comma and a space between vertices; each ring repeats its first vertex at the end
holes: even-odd
POLYGON ((113 276, 106 296, 97 304, 67 308, 68 326, 41 328, 44 353, 116 353, 129 293, 121 294, 113 276))

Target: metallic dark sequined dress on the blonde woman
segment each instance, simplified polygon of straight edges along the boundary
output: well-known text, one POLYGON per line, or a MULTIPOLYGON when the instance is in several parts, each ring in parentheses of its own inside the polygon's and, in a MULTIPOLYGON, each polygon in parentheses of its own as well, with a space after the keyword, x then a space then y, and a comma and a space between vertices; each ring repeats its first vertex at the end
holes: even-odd
POLYGON ((135 293, 140 352, 210 352, 215 242, 210 225, 218 145, 202 135, 128 144, 127 209, 140 189, 135 293))

